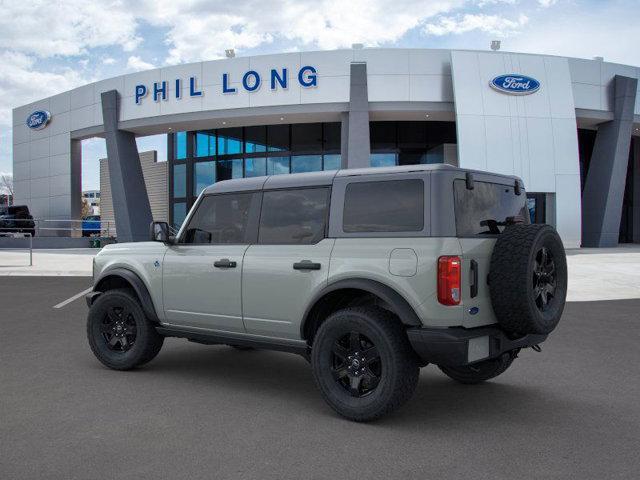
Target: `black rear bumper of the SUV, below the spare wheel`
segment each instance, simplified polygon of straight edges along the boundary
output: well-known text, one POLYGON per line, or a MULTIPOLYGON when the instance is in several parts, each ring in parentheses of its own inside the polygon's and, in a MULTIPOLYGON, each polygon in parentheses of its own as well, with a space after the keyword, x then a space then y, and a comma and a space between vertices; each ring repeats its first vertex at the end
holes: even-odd
POLYGON ((424 362, 451 367, 496 358, 510 350, 538 345, 547 339, 547 335, 537 334, 510 339, 497 326, 410 328, 407 335, 424 362))

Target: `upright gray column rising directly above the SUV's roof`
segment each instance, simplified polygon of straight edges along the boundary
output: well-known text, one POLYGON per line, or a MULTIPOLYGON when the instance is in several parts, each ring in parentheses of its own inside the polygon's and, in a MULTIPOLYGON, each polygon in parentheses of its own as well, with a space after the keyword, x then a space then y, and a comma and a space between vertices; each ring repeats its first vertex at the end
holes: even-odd
POLYGON ((371 146, 369 144, 369 94, 366 63, 351 64, 347 131, 347 168, 369 167, 371 146))

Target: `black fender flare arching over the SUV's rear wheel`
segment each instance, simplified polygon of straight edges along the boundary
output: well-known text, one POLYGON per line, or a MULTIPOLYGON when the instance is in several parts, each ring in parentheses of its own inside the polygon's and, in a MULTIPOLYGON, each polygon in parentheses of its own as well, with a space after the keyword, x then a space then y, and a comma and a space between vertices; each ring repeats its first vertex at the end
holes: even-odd
POLYGON ((411 307, 409 302, 393 288, 376 280, 368 278, 353 278, 330 283, 313 297, 313 300, 309 303, 309 307, 307 307, 307 310, 304 312, 304 316, 302 317, 302 322, 300 324, 300 335, 302 338, 305 338, 305 325, 318 302, 327 294, 344 289, 363 290, 371 293, 388 304, 393 309, 393 312, 398 315, 398 318, 404 325, 412 327, 422 326, 422 322, 413 310, 413 307, 411 307))

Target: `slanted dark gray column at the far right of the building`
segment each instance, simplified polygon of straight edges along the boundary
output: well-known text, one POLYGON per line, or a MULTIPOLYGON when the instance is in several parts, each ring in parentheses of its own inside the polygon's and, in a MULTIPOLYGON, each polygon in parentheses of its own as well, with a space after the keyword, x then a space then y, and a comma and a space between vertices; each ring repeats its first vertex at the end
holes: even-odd
POLYGON ((582 192, 582 246, 618 244, 638 80, 616 75, 613 120, 598 127, 582 192))

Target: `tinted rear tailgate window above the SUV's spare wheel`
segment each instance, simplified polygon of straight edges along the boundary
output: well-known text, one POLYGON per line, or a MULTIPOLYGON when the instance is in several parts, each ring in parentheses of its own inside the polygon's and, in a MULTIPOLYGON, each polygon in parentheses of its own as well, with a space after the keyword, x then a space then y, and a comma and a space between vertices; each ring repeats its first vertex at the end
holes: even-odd
POLYGON ((500 233, 508 217, 520 216, 529 223, 524 191, 516 195, 512 186, 477 181, 468 190, 464 180, 454 181, 453 191, 458 236, 500 233))

